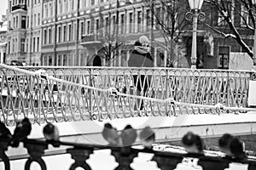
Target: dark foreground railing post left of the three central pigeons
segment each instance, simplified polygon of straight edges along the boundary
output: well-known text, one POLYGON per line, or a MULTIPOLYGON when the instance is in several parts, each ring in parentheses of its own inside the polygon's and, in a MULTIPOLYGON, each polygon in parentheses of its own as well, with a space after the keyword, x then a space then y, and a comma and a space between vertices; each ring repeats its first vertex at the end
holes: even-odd
POLYGON ((70 153, 73 160, 75 161, 69 170, 75 170, 77 167, 82 167, 84 170, 91 170, 90 166, 86 163, 86 160, 89 159, 90 154, 93 153, 93 149, 79 149, 79 148, 72 148, 67 149, 67 153, 70 153))

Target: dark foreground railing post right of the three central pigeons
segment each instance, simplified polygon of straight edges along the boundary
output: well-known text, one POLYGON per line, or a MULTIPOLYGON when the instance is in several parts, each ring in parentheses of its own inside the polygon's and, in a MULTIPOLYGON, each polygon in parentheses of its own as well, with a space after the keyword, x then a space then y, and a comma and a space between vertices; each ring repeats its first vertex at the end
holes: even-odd
POLYGON ((156 162, 157 167, 161 170, 173 170, 177 167, 178 163, 183 161, 183 157, 171 157, 155 154, 152 160, 156 162))

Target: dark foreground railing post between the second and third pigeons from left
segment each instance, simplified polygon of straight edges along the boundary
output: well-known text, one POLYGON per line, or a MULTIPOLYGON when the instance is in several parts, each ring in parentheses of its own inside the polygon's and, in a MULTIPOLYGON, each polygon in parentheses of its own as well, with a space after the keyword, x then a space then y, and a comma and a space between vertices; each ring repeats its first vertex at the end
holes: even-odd
POLYGON ((26 160, 25 170, 29 170, 33 161, 38 162, 42 170, 46 170, 46 164, 41 156, 44 155, 44 150, 48 149, 48 144, 32 144, 24 141, 24 147, 30 157, 26 160))

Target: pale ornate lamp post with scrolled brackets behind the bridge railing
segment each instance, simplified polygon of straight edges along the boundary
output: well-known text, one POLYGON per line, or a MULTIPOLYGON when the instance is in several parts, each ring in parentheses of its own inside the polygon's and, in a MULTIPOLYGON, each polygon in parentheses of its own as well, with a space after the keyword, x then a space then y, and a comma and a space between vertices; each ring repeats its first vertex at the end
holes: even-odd
POLYGON ((197 21, 205 20, 205 14, 201 12, 201 6, 204 0, 189 0, 190 12, 186 14, 187 20, 193 21, 193 36, 191 50, 191 69, 196 69, 196 30, 197 21))

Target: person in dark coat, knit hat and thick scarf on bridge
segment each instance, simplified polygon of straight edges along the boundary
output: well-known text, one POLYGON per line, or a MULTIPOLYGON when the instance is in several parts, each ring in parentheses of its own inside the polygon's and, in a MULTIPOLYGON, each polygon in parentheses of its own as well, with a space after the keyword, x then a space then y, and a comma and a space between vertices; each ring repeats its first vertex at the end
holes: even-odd
MULTIPOLYGON (((149 41, 148 37, 142 36, 134 44, 134 50, 131 52, 130 58, 128 59, 128 66, 130 67, 154 67, 154 60, 149 53, 149 41)), ((134 86, 137 88, 137 95, 145 96, 148 86, 150 86, 150 78, 145 77, 145 75, 133 76, 134 86)), ((137 99, 137 105, 139 110, 142 111, 144 104, 143 101, 137 99)), ((137 111, 137 105, 135 105, 134 110, 137 111)))

